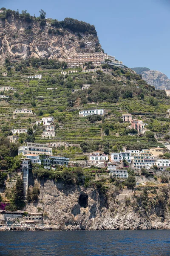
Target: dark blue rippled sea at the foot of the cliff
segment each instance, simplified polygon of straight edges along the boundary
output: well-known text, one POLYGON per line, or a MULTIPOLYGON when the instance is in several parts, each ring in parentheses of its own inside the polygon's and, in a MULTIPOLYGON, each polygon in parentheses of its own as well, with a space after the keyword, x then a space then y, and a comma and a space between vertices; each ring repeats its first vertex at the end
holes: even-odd
POLYGON ((170 256, 170 230, 5 231, 1 255, 170 256))

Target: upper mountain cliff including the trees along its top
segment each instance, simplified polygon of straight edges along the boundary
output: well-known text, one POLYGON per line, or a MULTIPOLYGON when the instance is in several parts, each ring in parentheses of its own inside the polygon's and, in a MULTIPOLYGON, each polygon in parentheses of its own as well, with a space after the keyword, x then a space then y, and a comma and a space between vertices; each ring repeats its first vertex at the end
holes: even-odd
POLYGON ((59 58, 65 60, 77 52, 101 51, 95 27, 65 18, 63 21, 33 17, 26 11, 0 13, 0 61, 10 58, 59 58), (85 49, 92 42, 92 49, 85 49))

